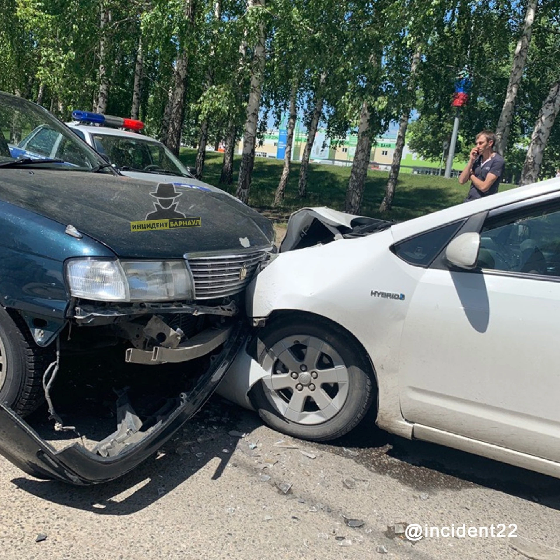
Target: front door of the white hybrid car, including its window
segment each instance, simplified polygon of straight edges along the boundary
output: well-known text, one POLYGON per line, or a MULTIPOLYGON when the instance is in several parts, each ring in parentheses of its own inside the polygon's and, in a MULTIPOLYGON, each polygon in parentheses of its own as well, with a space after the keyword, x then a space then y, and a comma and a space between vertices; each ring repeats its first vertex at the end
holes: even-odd
POLYGON ((432 265, 405 319, 402 413, 560 461, 560 200, 494 212, 479 267, 432 265))

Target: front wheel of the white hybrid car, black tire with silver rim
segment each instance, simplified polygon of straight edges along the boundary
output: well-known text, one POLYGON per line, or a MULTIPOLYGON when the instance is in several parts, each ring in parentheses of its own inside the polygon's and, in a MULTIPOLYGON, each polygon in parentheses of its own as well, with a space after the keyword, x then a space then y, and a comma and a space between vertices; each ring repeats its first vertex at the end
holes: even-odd
POLYGON ((319 317, 281 316, 259 338, 265 348, 258 361, 269 375, 249 398, 268 426, 312 441, 333 440, 357 426, 374 398, 375 380, 363 348, 345 330, 319 317))

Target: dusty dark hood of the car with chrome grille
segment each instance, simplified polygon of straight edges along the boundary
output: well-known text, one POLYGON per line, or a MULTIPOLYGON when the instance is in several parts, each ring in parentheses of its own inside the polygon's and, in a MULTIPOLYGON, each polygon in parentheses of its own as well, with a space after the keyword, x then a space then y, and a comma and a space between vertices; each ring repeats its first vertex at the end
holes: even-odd
POLYGON ((2 169, 0 200, 72 224, 122 258, 174 259, 272 245, 272 224, 239 200, 194 184, 170 185, 169 179, 164 188, 99 173, 2 169), (163 208, 175 193, 173 206, 163 208), (159 208, 155 195, 165 197, 159 208))

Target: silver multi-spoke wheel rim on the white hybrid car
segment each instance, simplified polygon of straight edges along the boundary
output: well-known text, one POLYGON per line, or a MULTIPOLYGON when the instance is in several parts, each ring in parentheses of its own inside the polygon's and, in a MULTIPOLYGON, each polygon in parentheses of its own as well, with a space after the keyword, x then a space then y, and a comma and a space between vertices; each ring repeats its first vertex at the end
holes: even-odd
POLYGON ((270 404, 292 422, 326 422, 348 397, 348 368, 319 337, 298 334, 279 340, 265 354, 262 366, 268 371, 263 382, 270 404))

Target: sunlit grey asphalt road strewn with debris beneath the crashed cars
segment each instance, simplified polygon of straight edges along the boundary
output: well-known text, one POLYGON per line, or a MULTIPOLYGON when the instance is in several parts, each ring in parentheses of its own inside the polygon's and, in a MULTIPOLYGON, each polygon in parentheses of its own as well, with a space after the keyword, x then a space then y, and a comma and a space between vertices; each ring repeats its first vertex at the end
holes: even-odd
MULTIPOLYGON (((75 387, 68 395, 79 406, 66 406, 65 420, 111 430, 108 410, 86 407, 75 387)), ((44 409, 30 423, 55 437, 44 409)), ((36 480, 2 458, 0 467, 2 558, 560 560, 560 480, 371 424, 310 444, 217 397, 157 456, 108 484, 36 480), (410 524, 428 536, 410 542, 410 524)))

